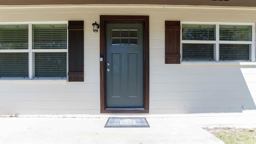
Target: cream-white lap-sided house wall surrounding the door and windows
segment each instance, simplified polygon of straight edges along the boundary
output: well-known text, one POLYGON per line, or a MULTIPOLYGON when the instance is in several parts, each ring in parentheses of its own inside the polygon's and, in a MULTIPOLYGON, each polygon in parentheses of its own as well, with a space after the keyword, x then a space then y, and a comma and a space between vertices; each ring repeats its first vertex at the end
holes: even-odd
POLYGON ((100 114, 100 32, 92 31, 92 23, 99 23, 100 15, 149 16, 150 114, 256 115, 255 62, 164 64, 166 20, 253 24, 255 53, 255 8, 60 5, 2 6, 0 23, 84 20, 84 82, 0 80, 0 116, 100 114))

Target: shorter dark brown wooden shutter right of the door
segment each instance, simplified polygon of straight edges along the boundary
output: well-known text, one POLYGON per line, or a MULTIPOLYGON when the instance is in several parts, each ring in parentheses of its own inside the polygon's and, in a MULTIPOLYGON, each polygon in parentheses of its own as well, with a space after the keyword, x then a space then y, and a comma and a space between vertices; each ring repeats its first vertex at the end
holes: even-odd
POLYGON ((165 21, 165 63, 180 64, 180 21, 165 21))

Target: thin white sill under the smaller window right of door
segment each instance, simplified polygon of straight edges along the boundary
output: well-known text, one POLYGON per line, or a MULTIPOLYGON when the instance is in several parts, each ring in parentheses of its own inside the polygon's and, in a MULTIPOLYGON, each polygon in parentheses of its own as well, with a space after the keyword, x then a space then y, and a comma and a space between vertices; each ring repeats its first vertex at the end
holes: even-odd
POLYGON ((183 66, 255 66, 256 62, 181 62, 183 66))

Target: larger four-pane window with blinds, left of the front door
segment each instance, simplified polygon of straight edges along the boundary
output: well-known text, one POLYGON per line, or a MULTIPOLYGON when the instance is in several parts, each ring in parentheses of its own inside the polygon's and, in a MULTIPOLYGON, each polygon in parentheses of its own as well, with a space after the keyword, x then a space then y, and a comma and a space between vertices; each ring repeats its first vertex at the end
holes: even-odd
POLYGON ((0 79, 67 79, 67 52, 67 24, 0 25, 0 79))

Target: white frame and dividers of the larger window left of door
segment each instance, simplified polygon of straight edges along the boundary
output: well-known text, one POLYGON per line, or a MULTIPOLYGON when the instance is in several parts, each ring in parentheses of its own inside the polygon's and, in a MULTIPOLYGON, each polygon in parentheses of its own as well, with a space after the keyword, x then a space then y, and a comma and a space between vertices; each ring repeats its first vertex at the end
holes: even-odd
POLYGON ((1 53, 28 52, 28 78, 0 78, 0 80, 68 80, 68 22, 0 22, 0 25, 28 25, 28 49, 0 50, 1 53), (67 48, 66 49, 32 49, 32 25, 36 24, 66 24, 67 48), (34 77, 34 53, 35 52, 66 52, 66 78, 33 78, 34 77))

